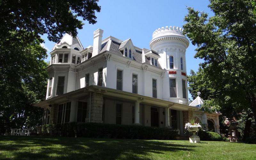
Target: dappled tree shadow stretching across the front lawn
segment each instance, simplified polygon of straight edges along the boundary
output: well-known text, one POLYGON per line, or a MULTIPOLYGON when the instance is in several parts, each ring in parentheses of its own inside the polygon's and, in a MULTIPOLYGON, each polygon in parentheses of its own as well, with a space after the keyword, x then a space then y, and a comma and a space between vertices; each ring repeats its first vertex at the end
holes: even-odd
POLYGON ((6 154, 0 159, 10 158, 4 155, 12 159, 143 159, 149 154, 193 151, 195 147, 199 146, 161 140, 5 136, 0 137, 0 150, 6 154))

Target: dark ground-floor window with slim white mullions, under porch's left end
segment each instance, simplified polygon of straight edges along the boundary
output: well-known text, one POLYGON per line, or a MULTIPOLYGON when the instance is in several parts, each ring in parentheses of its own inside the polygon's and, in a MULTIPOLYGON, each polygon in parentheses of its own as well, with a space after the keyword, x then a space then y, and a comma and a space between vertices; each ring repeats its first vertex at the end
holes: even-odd
POLYGON ((69 122, 71 102, 59 105, 57 124, 69 122))

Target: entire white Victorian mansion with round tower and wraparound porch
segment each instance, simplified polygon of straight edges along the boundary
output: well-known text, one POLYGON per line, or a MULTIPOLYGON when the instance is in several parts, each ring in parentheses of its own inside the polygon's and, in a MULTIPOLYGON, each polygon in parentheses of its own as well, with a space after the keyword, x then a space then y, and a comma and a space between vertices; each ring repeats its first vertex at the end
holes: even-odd
POLYGON ((86 48, 68 34, 51 54, 43 124, 94 122, 172 127, 183 134, 188 118, 197 117, 204 128, 219 131, 219 113, 200 110, 198 96, 188 104, 186 48, 189 41, 175 26, 158 28, 150 49, 138 48, 131 39, 103 30, 93 33, 86 48))

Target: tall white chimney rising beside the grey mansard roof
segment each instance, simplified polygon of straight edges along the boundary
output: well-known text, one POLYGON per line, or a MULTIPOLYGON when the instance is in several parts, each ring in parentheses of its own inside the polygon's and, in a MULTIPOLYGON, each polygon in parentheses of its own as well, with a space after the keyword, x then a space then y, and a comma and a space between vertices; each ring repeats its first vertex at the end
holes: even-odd
POLYGON ((97 29, 93 32, 93 51, 92 51, 92 57, 99 54, 101 50, 101 41, 102 41, 102 29, 97 29))

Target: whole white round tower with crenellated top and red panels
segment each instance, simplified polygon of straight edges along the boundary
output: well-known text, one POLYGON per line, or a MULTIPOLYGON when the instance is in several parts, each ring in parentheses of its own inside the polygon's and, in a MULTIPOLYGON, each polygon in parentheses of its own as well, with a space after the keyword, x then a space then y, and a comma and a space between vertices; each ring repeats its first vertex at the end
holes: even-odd
POLYGON ((156 29, 149 46, 159 53, 163 76, 163 99, 188 105, 186 49, 189 41, 183 29, 166 26, 156 29))

